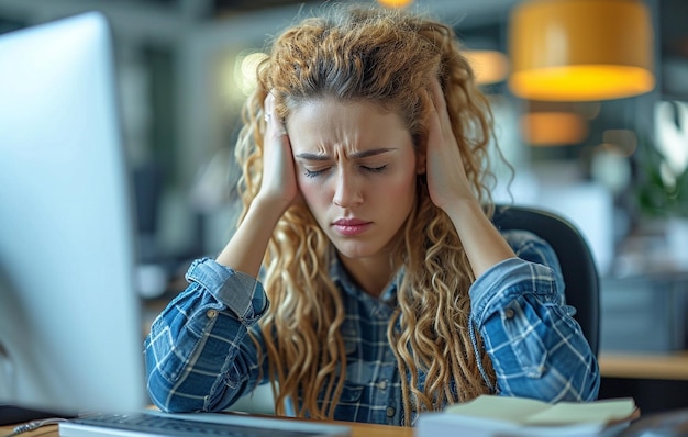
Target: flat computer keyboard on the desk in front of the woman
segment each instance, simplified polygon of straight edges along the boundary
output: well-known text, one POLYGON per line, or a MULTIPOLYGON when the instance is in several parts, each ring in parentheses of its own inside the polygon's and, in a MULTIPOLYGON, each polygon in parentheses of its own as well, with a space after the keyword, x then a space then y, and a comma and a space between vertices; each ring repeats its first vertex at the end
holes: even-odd
POLYGON ((59 424, 63 437, 348 437, 347 426, 236 414, 89 414, 59 424))

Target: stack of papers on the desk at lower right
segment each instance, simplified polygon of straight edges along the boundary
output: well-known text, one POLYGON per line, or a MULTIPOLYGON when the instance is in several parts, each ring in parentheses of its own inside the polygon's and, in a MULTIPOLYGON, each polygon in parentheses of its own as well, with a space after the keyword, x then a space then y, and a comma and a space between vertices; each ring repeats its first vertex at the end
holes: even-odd
POLYGON ((546 402, 482 395, 421 414, 417 437, 614 436, 640 415, 633 399, 596 402, 546 402))

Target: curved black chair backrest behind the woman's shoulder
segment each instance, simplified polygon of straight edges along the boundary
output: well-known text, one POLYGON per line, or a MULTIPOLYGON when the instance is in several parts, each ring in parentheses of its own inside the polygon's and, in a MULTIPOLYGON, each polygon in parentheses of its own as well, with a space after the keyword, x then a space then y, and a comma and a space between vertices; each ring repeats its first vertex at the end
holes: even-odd
POLYGON ((530 231, 547 242, 559 260, 566 303, 597 356, 600 337, 599 274, 588 243, 564 217, 530 206, 497 205, 492 222, 502 231, 530 231))

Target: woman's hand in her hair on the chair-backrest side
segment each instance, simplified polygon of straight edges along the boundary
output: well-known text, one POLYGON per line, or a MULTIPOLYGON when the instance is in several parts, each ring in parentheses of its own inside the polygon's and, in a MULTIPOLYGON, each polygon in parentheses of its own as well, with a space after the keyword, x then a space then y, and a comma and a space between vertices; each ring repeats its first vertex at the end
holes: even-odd
POLYGON ((428 124, 426 172, 428 189, 433 203, 447 211, 451 204, 465 199, 475 201, 462 159, 462 153, 452 131, 442 86, 433 80, 430 94, 433 108, 428 124))

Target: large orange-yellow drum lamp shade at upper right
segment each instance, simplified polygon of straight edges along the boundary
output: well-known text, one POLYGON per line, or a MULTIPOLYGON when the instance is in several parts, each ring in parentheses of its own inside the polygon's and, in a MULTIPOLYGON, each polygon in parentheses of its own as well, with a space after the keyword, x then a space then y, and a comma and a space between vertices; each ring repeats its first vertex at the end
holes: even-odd
POLYGON ((509 21, 509 88, 545 101, 651 91, 654 36, 640 0, 530 0, 509 21))

